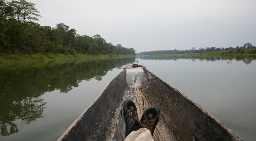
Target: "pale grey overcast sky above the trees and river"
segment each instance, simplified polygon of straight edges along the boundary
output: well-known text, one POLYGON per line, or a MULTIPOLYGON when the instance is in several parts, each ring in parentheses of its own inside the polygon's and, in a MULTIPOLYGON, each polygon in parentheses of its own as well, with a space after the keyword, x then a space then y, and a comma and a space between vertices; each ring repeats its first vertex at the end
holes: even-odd
POLYGON ((28 0, 41 25, 65 23, 137 52, 256 45, 256 0, 28 0))

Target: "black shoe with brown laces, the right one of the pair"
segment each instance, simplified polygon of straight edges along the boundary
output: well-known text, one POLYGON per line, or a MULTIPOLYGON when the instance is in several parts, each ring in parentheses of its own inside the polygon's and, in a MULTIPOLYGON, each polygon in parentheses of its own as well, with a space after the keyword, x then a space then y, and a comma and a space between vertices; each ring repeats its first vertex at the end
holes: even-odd
POLYGON ((151 135, 153 136, 156 124, 160 118, 160 110, 157 106, 149 106, 143 113, 141 118, 141 124, 144 128, 150 130, 151 135))

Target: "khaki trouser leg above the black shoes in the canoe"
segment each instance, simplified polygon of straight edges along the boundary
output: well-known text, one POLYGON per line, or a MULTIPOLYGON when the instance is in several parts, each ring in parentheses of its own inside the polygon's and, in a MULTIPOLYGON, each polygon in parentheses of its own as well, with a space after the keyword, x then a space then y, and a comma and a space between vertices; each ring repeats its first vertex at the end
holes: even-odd
POLYGON ((124 141, 154 141, 151 132, 147 128, 132 131, 124 141))

